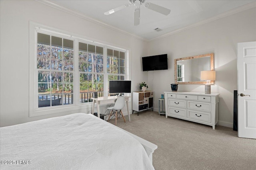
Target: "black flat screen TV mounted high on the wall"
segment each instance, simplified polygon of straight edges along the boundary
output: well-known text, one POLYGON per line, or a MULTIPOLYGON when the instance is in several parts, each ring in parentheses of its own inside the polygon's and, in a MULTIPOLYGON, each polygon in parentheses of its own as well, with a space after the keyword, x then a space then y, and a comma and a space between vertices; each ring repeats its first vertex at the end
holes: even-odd
POLYGON ((167 54, 142 57, 142 70, 168 70, 167 54))

